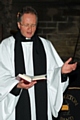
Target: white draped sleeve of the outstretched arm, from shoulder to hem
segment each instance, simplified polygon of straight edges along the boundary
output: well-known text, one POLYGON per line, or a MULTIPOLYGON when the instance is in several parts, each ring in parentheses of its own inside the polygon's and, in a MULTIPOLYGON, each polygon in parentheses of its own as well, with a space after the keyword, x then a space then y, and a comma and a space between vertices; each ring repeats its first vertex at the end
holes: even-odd
MULTIPOLYGON (((48 107, 54 117, 63 103, 63 92, 68 86, 69 78, 61 75, 63 61, 59 57, 55 48, 49 42, 46 49, 47 55, 47 85, 48 85, 48 107), (49 46, 48 46, 49 45, 49 46), (49 48, 49 49, 48 49, 49 48)), ((49 112, 50 113, 50 112, 49 112)))

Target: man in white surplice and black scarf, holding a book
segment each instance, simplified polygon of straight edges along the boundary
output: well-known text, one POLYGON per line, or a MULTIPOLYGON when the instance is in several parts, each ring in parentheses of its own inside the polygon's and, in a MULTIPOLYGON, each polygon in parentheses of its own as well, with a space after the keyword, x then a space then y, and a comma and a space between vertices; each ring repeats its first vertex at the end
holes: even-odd
POLYGON ((0 120, 52 120, 58 116, 67 73, 77 63, 64 64, 51 42, 36 35, 38 16, 31 7, 17 14, 19 32, 0 44, 0 120), (46 74, 47 79, 25 84, 19 73, 46 74))

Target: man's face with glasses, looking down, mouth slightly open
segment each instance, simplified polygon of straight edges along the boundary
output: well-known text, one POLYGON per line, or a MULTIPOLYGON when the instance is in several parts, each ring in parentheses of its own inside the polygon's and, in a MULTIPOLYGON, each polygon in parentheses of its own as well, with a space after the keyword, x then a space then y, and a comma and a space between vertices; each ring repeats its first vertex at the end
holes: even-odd
POLYGON ((20 29, 22 35, 26 38, 31 38, 37 26, 37 17, 35 14, 24 14, 21 18, 21 22, 18 22, 18 28, 20 29))

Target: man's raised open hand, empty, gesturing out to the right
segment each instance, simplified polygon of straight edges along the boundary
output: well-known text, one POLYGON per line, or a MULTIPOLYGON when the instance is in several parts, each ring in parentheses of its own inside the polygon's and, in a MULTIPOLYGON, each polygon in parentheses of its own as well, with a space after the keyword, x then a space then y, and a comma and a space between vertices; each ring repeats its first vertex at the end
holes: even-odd
POLYGON ((73 70, 76 69, 77 67, 77 62, 73 64, 69 64, 72 61, 72 58, 69 58, 62 66, 61 73, 62 74, 67 74, 72 72, 73 70))

